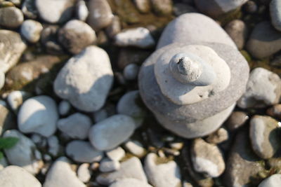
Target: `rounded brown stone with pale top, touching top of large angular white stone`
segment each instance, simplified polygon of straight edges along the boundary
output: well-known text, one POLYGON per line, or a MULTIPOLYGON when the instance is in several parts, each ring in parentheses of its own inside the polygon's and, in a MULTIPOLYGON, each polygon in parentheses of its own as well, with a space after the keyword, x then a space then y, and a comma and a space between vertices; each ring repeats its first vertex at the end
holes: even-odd
POLYGON ((59 30, 58 41, 76 55, 96 41, 96 33, 85 22, 70 20, 59 30))

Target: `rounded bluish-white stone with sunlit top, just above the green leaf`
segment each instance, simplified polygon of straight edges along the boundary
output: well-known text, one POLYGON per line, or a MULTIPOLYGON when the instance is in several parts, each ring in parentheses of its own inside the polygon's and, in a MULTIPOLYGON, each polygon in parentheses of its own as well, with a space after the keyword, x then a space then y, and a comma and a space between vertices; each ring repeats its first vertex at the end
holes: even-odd
POLYGON ((58 111, 55 101, 41 95, 27 99, 18 112, 18 128, 21 132, 37 132, 44 137, 55 133, 58 111))

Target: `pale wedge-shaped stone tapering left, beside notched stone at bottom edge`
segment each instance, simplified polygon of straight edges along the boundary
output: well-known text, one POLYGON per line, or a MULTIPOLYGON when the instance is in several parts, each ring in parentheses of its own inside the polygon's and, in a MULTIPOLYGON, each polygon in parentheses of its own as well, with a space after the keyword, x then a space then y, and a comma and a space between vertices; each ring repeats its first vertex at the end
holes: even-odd
POLYGON ((96 181, 105 186, 109 186, 115 181, 128 178, 138 179, 145 183, 148 182, 145 172, 143 171, 143 166, 141 165, 141 160, 136 157, 129 158, 129 160, 122 162, 120 169, 115 172, 99 174, 96 181))

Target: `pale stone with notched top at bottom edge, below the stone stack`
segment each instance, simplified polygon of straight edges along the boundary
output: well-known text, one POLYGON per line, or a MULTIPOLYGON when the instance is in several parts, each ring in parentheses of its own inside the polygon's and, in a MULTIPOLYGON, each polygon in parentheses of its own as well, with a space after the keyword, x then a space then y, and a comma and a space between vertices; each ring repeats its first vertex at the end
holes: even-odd
POLYGON ((155 187, 181 186, 180 168, 174 160, 158 163, 157 155, 149 153, 145 158, 145 173, 148 181, 155 187))

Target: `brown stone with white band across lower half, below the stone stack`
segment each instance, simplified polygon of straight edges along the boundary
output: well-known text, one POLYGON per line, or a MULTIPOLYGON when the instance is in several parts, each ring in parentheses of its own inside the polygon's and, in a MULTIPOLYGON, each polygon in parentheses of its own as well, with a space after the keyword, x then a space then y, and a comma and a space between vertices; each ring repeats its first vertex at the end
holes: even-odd
POLYGON ((195 139, 191 148, 191 159, 196 172, 218 177, 226 168, 219 148, 203 139, 195 139))

